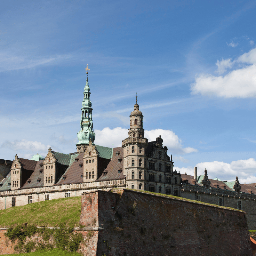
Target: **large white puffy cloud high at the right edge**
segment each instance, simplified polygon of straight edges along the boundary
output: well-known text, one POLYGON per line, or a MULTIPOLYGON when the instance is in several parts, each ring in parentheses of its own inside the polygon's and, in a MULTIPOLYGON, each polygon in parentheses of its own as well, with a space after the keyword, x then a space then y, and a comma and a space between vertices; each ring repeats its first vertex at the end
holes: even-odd
POLYGON ((224 76, 201 74, 191 85, 193 94, 211 95, 225 98, 256 97, 256 48, 240 55, 236 60, 217 61, 218 73, 224 73, 234 65, 239 68, 224 76))

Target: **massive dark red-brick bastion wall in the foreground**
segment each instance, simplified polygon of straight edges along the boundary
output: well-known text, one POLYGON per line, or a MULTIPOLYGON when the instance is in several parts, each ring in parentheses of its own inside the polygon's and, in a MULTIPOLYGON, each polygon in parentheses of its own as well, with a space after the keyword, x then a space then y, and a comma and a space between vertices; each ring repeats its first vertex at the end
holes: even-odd
POLYGON ((98 190, 82 194, 80 222, 104 228, 91 255, 237 256, 252 255, 245 215, 127 189, 98 190))

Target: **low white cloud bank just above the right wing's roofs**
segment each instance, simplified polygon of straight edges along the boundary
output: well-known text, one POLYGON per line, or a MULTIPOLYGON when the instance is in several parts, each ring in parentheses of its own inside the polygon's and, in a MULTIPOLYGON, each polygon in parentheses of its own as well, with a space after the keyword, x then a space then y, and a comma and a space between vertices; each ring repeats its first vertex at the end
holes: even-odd
MULTIPOLYGON (((203 175, 204 169, 206 168, 210 179, 218 177, 220 180, 233 181, 236 179, 237 175, 241 183, 256 183, 256 161, 253 158, 233 161, 230 164, 220 161, 204 162, 198 163, 196 166, 197 175, 203 175)), ((193 167, 190 166, 187 168, 177 167, 174 169, 183 174, 187 172, 187 174, 193 175, 193 167)))

